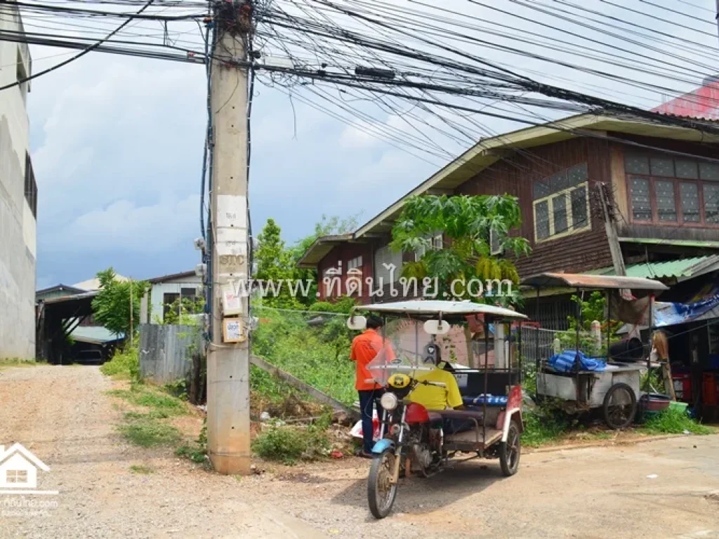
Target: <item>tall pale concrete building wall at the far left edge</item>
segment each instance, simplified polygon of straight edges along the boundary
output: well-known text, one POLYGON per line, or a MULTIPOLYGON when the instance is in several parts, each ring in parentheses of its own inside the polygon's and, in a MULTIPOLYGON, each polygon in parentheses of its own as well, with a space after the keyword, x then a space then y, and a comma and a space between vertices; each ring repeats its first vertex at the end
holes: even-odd
MULTIPOLYGON (((0 27, 22 30, 19 14, 6 6, 0 27)), ((0 86, 17 80, 17 63, 32 73, 27 45, 0 41, 0 86)), ((0 92, 0 358, 35 357, 35 217, 25 201, 25 155, 29 151, 25 88, 0 92)))

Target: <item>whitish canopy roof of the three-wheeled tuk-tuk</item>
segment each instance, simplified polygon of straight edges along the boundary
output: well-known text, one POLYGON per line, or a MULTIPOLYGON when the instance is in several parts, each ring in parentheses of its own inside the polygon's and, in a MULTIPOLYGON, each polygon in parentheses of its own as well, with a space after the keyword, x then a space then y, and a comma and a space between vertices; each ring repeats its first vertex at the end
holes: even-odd
POLYGON ((466 315, 487 315, 488 319, 526 320, 526 316, 516 310, 484 305, 472 301, 444 301, 444 300, 411 300, 397 301, 395 303, 375 303, 372 305, 357 305, 354 310, 371 310, 375 313, 413 315, 422 318, 432 316, 443 318, 466 315))

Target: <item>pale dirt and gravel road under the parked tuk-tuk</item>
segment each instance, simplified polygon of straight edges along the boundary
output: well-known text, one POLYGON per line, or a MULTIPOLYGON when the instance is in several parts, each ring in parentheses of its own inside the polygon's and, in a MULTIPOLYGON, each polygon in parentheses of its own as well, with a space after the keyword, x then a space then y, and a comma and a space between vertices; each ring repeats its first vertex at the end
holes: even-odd
POLYGON ((374 522, 366 461, 217 476, 122 441, 109 387, 96 367, 0 371, 0 444, 23 443, 51 468, 38 487, 59 491, 44 515, 0 494, 15 511, 1 537, 719 538, 719 436, 529 453, 510 479, 458 464, 403 484, 374 522))

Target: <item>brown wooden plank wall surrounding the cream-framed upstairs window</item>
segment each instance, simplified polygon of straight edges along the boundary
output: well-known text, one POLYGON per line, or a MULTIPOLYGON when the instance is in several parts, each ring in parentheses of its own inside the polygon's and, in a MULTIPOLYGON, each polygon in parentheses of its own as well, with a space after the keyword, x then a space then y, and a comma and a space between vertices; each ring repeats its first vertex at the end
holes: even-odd
POLYGON ((610 143, 597 139, 570 139, 556 144, 512 152, 457 188, 464 195, 516 195, 522 211, 521 234, 530 241, 529 257, 516 261, 522 277, 536 273, 582 272, 612 265, 609 244, 598 206, 597 182, 611 183, 610 143), (532 183, 574 165, 587 163, 591 229, 535 244, 532 183))

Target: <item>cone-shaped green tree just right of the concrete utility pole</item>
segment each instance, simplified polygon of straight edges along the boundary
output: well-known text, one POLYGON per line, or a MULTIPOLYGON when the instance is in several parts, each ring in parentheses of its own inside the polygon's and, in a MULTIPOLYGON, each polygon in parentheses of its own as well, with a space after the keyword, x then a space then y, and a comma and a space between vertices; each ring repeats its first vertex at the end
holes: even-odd
POLYGON ((277 297, 272 294, 262 298, 262 303, 270 307, 295 308, 298 302, 290 295, 287 280, 296 279, 296 262, 292 253, 285 247, 281 237, 281 229, 275 220, 267 219, 265 227, 257 236, 257 251, 255 251, 255 262, 257 272, 255 278, 262 281, 272 281, 279 286, 284 281, 277 297))

